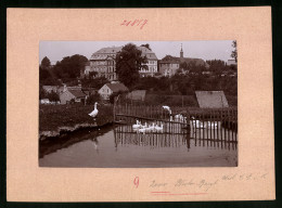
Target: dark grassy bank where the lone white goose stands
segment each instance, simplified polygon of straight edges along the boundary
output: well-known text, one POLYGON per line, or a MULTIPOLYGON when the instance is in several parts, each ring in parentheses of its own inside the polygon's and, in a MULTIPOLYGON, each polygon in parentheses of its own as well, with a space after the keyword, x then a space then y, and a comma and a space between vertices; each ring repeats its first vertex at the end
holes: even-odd
POLYGON ((60 127, 75 127, 76 125, 103 126, 113 122, 113 107, 111 105, 98 106, 99 114, 93 120, 88 114, 93 105, 40 105, 39 131, 56 131, 60 127))

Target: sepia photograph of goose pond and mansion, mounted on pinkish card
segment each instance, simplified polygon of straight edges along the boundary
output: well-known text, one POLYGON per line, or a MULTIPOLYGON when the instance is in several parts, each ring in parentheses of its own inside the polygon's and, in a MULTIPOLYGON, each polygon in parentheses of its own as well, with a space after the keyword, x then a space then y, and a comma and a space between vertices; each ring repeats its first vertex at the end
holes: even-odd
POLYGON ((40 41, 39 167, 238 166, 236 40, 40 41))

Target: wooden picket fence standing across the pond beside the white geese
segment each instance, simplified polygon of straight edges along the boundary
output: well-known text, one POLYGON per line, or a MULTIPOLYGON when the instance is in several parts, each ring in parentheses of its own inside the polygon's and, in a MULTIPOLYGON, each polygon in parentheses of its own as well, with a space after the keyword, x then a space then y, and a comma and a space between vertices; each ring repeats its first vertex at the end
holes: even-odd
POLYGON ((137 120, 142 123, 164 125, 163 133, 176 134, 193 132, 191 138, 236 142, 238 110, 235 108, 189 108, 175 106, 171 113, 162 105, 144 105, 142 103, 118 103, 114 105, 114 120, 118 123, 132 125, 137 120), (180 119, 180 118, 181 119, 180 119))

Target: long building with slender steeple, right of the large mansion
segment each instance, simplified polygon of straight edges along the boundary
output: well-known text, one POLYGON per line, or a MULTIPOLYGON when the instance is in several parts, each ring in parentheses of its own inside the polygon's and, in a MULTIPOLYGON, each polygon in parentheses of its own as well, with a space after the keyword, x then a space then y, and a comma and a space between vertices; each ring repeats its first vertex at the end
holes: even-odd
POLYGON ((195 64, 196 66, 202 65, 208 67, 208 64, 202 58, 184 57, 182 46, 181 46, 179 57, 166 55, 163 60, 159 61, 158 63, 159 73, 163 76, 171 77, 176 74, 177 69, 180 68, 180 64, 182 63, 187 63, 188 65, 195 64))

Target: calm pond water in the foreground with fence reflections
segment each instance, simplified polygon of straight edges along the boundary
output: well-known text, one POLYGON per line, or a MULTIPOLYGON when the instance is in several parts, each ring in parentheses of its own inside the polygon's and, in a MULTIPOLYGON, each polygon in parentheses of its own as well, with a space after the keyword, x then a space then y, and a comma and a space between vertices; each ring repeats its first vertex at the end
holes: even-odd
POLYGON ((39 144, 40 167, 235 167, 236 139, 226 129, 136 133, 131 126, 84 130, 39 144), (201 139, 202 138, 202 139, 201 139))

